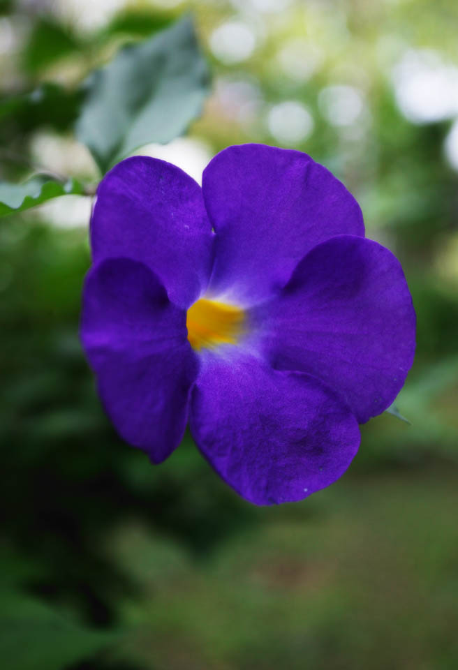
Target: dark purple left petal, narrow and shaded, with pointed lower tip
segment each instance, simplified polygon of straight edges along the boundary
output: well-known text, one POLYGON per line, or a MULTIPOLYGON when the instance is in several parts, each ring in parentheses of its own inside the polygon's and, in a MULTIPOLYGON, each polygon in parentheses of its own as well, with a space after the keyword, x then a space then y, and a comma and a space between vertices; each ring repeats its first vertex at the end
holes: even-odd
POLYGON ((182 440, 198 371, 186 313, 145 265, 109 259, 87 275, 81 337, 119 435, 160 463, 182 440))

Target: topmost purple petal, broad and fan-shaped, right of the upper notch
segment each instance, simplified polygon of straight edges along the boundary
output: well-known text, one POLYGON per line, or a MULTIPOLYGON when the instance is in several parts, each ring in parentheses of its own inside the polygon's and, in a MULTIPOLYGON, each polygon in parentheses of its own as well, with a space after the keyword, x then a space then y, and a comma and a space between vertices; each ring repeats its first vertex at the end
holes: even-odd
POLYGON ((353 195, 301 151, 229 147, 205 168, 202 192, 216 231, 209 293, 242 306, 285 285, 316 244, 339 234, 364 236, 353 195))

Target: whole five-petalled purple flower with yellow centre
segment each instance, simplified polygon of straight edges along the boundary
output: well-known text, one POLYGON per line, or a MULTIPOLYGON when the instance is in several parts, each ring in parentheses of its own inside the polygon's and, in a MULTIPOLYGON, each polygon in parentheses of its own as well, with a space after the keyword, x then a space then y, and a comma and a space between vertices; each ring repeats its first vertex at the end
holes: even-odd
POLYGON ((300 151, 229 147, 202 188, 128 158, 98 187, 91 244, 82 341, 117 431, 160 463, 189 420, 258 505, 340 477, 413 362, 399 262, 300 151))

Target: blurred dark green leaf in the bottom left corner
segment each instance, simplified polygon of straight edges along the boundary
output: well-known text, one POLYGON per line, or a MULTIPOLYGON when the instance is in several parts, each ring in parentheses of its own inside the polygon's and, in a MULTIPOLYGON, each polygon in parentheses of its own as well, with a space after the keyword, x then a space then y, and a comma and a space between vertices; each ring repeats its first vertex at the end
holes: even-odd
POLYGON ((8 670, 62 670, 112 644, 119 634, 88 630, 16 591, 0 593, 0 657, 8 670))

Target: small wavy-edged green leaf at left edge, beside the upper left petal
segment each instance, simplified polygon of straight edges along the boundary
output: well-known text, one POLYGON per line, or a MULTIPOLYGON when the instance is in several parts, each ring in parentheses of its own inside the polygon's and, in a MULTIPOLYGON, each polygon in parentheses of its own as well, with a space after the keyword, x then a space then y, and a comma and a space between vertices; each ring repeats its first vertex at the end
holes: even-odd
POLYGON ((65 183, 53 179, 47 174, 37 174, 24 184, 10 184, 0 181, 0 216, 14 211, 30 209, 59 195, 83 193, 79 181, 68 179, 65 183))

